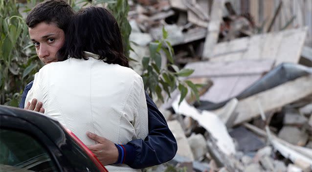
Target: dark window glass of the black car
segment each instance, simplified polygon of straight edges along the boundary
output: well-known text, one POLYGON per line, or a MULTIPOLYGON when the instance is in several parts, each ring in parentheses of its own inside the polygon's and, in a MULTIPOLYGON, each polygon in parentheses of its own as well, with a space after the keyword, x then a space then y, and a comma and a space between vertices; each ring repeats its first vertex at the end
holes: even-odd
POLYGON ((57 168, 48 151, 33 137, 0 129, 0 171, 57 172, 57 168))

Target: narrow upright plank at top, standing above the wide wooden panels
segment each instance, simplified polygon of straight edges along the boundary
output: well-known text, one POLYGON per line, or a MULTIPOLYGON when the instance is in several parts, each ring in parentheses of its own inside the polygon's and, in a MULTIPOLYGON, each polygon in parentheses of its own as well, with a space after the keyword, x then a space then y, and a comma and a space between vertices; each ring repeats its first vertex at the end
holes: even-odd
POLYGON ((202 59, 208 59, 212 57, 214 46, 217 43, 219 37, 223 6, 224 0, 214 0, 212 3, 210 21, 207 27, 207 36, 202 52, 202 59))

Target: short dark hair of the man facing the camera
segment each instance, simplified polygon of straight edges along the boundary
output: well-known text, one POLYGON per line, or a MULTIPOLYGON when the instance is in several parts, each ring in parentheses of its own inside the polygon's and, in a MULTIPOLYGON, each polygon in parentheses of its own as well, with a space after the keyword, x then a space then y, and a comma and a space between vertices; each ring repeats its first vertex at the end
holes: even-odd
POLYGON ((72 8, 64 0, 45 0, 31 9, 26 18, 26 24, 33 28, 43 21, 53 22, 65 32, 73 14, 72 8))

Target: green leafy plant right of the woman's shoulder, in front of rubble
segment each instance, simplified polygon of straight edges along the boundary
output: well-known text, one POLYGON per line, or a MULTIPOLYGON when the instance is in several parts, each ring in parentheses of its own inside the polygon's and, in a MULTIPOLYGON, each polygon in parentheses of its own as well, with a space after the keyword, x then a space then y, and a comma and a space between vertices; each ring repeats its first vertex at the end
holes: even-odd
POLYGON ((199 99, 198 87, 189 80, 182 80, 181 77, 190 76, 193 69, 179 69, 174 64, 174 50, 171 44, 167 41, 168 32, 162 28, 162 39, 149 44, 150 57, 144 57, 143 64, 143 82, 146 91, 153 96, 156 93, 157 98, 164 102, 162 90, 164 90, 168 98, 171 93, 178 88, 181 93, 179 104, 186 97, 188 87, 191 89, 191 94, 194 94, 199 99), (161 68, 161 54, 163 51, 166 54, 168 63, 164 68, 161 68))

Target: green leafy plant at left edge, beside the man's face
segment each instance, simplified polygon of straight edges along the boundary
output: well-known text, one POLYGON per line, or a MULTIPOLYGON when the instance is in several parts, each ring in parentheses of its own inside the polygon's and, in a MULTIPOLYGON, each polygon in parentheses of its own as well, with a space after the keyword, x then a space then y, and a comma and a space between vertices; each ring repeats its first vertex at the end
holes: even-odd
POLYGON ((18 106, 24 84, 41 67, 19 7, 13 0, 0 0, 0 104, 10 106, 18 106))

